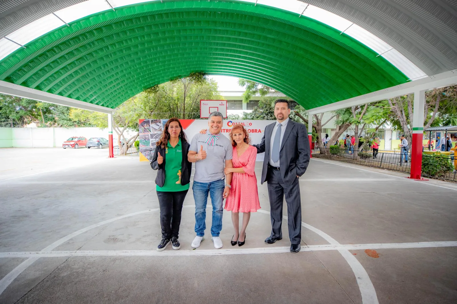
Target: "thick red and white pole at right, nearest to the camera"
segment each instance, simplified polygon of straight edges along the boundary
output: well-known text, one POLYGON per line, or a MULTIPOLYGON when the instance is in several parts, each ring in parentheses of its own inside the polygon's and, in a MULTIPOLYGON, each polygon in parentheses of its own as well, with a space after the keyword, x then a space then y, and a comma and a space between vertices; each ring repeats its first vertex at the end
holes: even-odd
POLYGON ((411 143, 411 175, 420 180, 422 174, 422 139, 424 137, 425 91, 414 92, 413 142, 411 143))

